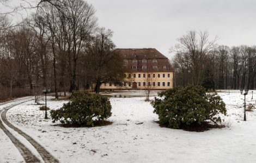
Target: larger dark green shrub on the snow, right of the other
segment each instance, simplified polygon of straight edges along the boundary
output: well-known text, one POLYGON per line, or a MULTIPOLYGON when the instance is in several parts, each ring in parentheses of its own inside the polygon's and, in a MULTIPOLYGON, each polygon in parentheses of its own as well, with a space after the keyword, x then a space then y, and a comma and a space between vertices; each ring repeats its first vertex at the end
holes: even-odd
POLYGON ((155 98, 151 105, 159 115, 160 124, 170 128, 200 125, 206 121, 221 123, 219 114, 227 112, 221 97, 216 92, 206 93, 202 86, 175 87, 160 92, 159 96, 161 98, 155 98))

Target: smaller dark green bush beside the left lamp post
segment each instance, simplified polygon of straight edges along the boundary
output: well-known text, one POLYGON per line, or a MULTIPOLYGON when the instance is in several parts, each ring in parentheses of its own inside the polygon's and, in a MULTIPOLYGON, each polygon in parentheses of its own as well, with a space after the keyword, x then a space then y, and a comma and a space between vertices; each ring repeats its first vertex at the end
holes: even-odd
POLYGON ((94 126, 94 122, 105 120, 111 116, 111 104, 106 96, 76 91, 72 93, 71 102, 62 108, 52 110, 53 123, 78 124, 94 126))

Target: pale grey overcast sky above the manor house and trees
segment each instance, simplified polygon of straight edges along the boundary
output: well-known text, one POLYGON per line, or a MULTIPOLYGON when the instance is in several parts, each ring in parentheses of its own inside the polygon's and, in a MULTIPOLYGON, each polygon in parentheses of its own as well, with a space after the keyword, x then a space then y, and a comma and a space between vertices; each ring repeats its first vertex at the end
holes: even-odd
MULTIPOLYGON (((169 48, 188 30, 208 30, 220 45, 256 45, 255 0, 88 0, 117 48, 169 48)), ((169 56, 168 56, 169 55, 169 56)))

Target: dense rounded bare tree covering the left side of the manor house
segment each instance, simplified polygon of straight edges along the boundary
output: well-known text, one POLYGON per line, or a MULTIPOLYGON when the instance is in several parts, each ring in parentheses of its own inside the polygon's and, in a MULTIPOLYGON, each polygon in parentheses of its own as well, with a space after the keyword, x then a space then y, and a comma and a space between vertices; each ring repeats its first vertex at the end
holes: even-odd
POLYGON ((96 93, 99 93, 101 84, 114 82, 120 85, 124 78, 123 60, 120 54, 113 52, 112 35, 111 30, 99 28, 92 41, 87 43, 84 66, 87 67, 88 77, 96 83, 96 93))

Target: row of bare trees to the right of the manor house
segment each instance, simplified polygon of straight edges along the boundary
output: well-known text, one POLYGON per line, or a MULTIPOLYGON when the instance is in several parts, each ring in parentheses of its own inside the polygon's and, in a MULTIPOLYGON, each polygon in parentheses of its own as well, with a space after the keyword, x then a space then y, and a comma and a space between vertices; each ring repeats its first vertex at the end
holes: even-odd
POLYGON ((203 85, 207 89, 255 89, 256 46, 217 45, 209 33, 189 31, 171 49, 175 86, 203 85))

